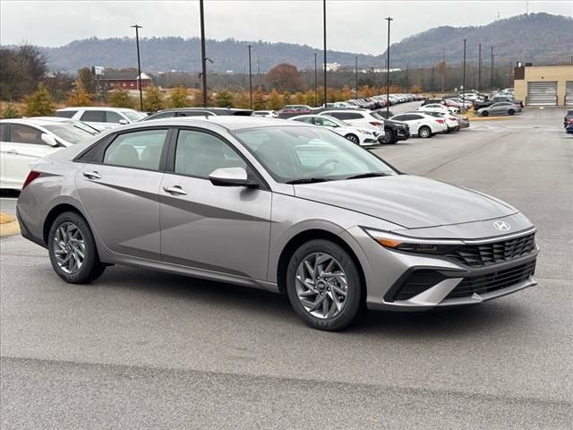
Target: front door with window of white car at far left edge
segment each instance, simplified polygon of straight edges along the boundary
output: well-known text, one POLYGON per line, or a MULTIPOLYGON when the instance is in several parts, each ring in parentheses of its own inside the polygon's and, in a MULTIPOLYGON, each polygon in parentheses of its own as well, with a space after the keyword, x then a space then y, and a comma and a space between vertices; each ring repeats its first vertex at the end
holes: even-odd
POLYGON ((9 125, 6 142, 2 142, 4 187, 20 189, 30 172, 30 163, 57 150, 42 141, 42 133, 32 125, 9 125))

